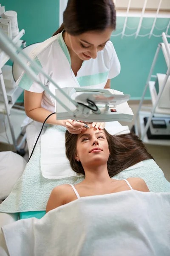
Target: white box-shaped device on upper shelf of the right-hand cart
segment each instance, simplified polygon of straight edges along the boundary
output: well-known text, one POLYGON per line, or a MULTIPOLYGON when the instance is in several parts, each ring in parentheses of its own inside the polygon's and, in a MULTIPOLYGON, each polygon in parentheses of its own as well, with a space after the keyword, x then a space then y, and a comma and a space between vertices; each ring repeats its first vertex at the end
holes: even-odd
MULTIPOLYGON (((155 82, 155 88, 156 88, 156 93, 158 94, 159 91, 161 90, 162 85, 164 84, 164 78, 166 74, 156 74, 156 75, 157 75, 157 79, 155 82)), ((167 79, 167 83, 159 99, 158 107, 170 109, 170 76, 167 79)))

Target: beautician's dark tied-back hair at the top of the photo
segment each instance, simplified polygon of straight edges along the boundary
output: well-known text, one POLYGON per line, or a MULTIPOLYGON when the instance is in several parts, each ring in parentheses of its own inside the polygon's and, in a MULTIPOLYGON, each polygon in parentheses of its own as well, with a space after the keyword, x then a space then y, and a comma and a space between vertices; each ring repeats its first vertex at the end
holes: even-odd
POLYGON ((68 0, 63 14, 63 23, 54 33, 65 29, 70 35, 88 31, 116 29, 116 10, 113 0, 68 0))

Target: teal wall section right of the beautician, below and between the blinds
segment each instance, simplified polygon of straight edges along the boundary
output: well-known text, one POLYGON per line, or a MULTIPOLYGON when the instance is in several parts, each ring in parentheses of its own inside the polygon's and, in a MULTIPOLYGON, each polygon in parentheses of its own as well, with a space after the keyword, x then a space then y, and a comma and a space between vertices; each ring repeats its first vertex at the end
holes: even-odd
MULTIPOLYGON (((140 35, 146 35, 150 32, 153 20, 153 18, 143 19, 142 26, 145 28, 141 29, 140 35), (148 29, 146 29, 146 27, 148 29)), ((170 19, 167 18, 158 18, 156 20, 156 27, 158 29, 154 29, 153 34, 161 35, 162 32, 166 31, 165 27, 167 27, 169 20, 170 19)), ((113 35, 119 34, 119 32, 122 31, 124 21, 124 17, 117 17, 117 29, 113 35)), ((125 34, 129 35, 136 32, 138 23, 139 18, 129 17, 127 20, 127 26, 134 29, 126 29, 125 34)), ((170 29, 168 34, 170 35, 170 29)), ((149 36, 146 36, 137 37, 135 39, 134 35, 130 37, 124 36, 121 39, 120 35, 111 37, 111 41, 113 42, 121 64, 121 73, 115 79, 112 79, 111 87, 116 90, 123 91, 123 93, 129 93, 131 95, 131 99, 140 99, 150 72, 156 48, 158 47, 159 42, 162 42, 162 38, 152 36, 149 39, 149 36)), ((166 73, 166 71, 167 65, 164 61, 163 53, 160 51, 154 75, 156 75, 156 73, 166 73)), ((145 99, 150 99, 149 90, 146 93, 145 99)))

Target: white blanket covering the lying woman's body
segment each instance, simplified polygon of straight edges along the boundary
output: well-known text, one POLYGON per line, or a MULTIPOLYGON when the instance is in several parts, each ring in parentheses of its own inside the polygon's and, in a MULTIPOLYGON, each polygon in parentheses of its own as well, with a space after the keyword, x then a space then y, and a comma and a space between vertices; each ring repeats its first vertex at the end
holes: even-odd
POLYGON ((84 197, 2 230, 10 256, 170 256, 170 193, 84 197))

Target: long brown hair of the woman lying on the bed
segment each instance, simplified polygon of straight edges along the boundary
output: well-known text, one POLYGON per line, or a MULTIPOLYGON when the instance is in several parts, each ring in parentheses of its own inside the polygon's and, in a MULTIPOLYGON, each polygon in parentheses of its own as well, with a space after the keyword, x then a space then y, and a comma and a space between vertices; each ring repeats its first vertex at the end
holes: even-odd
MULTIPOLYGON (((86 122, 85 122, 86 123, 86 122)), ((87 123, 88 124, 88 123, 87 123)), ((142 140, 135 134, 111 135, 105 129, 106 139, 109 145, 110 156, 107 162, 110 177, 122 172, 143 160, 153 159, 147 152, 142 140)), ((65 133, 65 152, 74 172, 85 175, 81 162, 75 159, 78 134, 65 133)))

